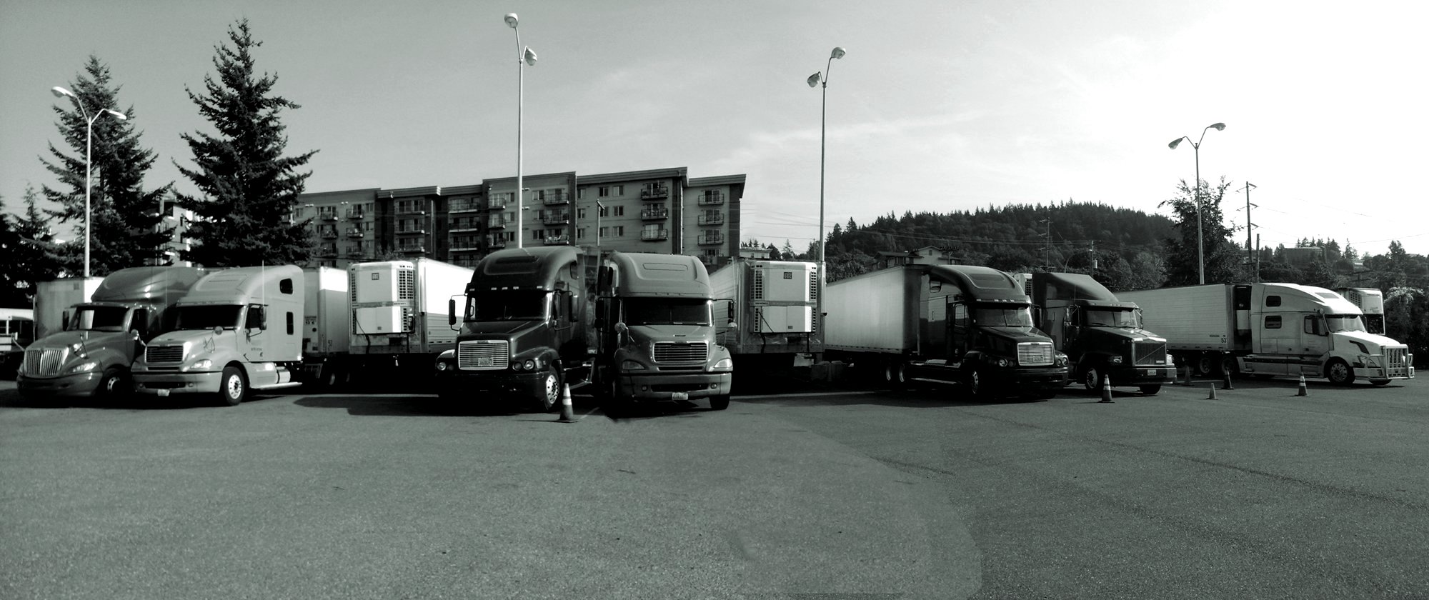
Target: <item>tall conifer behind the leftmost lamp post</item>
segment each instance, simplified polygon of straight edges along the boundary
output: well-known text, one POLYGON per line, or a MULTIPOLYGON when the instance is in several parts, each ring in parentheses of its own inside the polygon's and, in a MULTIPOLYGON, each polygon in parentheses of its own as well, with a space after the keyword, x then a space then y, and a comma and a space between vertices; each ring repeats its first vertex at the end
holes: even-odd
POLYGON ((119 269, 149 264, 160 256, 159 247, 170 236, 160 229, 159 199, 169 193, 171 184, 143 189, 144 173, 153 167, 156 156, 139 144, 133 106, 123 110, 127 119, 97 114, 117 106, 119 87, 111 83, 109 66, 91 54, 84 63, 84 73, 71 83, 71 91, 79 101, 61 99, 54 113, 60 117, 56 126, 74 154, 69 156, 50 144, 54 160, 40 159, 60 180, 57 189, 44 186, 44 196, 60 206, 47 213, 61 223, 74 221, 74 243, 57 250, 71 273, 84 271, 84 147, 86 127, 93 119, 93 136, 89 136, 93 143, 90 274, 106 276, 119 269))

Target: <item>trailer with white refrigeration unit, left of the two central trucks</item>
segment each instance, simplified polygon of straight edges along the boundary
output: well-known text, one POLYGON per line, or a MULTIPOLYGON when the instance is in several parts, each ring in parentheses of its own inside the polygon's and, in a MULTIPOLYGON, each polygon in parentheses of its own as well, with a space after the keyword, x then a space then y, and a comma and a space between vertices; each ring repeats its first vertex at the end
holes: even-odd
POLYGON ((432 259, 347 267, 350 356, 336 367, 336 379, 390 373, 427 384, 432 361, 443 351, 456 349, 452 299, 464 294, 473 273, 472 269, 432 259))

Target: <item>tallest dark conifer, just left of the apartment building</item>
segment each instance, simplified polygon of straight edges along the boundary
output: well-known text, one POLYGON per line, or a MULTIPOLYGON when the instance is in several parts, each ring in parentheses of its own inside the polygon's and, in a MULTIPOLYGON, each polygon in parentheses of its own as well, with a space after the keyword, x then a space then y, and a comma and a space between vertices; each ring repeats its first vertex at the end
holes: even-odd
POLYGON ((206 96, 187 90, 217 136, 181 136, 196 169, 179 171, 199 187, 196 196, 176 194, 179 206, 197 216, 187 233, 193 249, 181 256, 209 267, 306 263, 309 220, 289 223, 289 214, 312 176, 297 169, 316 150, 283 156, 287 137, 279 113, 299 104, 273 93, 277 76, 257 77, 253 49, 262 41, 247 19, 229 27, 229 41, 214 47, 217 79, 204 76, 206 96))

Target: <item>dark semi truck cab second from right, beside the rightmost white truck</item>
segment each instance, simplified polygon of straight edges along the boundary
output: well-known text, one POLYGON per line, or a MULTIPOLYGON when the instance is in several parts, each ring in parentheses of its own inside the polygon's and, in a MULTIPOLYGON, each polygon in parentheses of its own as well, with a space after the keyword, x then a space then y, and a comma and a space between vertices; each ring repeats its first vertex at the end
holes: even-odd
POLYGON ((1166 339, 1147 331, 1136 303, 1117 300, 1112 290, 1080 273, 1032 273, 1033 316, 1037 329, 1066 353, 1072 380, 1097 390, 1130 386, 1153 396, 1176 383, 1176 366, 1166 339))

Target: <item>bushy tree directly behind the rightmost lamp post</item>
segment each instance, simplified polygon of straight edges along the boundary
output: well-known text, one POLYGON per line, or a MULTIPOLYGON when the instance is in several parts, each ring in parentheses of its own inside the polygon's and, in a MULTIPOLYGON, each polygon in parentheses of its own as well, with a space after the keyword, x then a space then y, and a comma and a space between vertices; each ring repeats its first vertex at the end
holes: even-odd
MULTIPOLYGON (((1213 189, 1200 181, 1200 239, 1203 240, 1206 283, 1233 283, 1243 273, 1240 269, 1240 247, 1232 241, 1236 227, 1229 227, 1220 213, 1220 201, 1230 183, 1225 177, 1213 189)), ((1175 213, 1176 230, 1180 237, 1166 240, 1166 276, 1172 286, 1195 286, 1199 283, 1196 253, 1196 200, 1190 186, 1182 180, 1180 194, 1163 200, 1175 213)))

